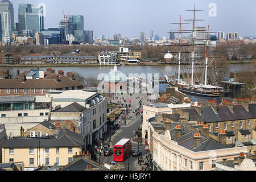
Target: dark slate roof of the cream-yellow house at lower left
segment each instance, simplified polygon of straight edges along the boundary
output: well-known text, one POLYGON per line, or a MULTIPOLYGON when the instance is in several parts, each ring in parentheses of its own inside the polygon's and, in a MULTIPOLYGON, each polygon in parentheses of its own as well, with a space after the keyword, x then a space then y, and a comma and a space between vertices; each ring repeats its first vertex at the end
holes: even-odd
POLYGON ((2 147, 73 147, 73 146, 83 146, 82 135, 72 132, 65 127, 56 134, 55 137, 48 139, 39 138, 26 138, 26 139, 11 139, 4 140, 2 147), (40 142, 39 142, 40 140, 40 142), (40 143, 40 146, 39 146, 40 143))

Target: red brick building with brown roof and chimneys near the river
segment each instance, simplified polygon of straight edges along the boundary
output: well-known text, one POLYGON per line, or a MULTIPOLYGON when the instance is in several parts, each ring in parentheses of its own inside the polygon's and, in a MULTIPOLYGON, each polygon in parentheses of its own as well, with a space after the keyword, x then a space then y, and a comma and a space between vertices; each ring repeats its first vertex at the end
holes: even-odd
POLYGON ((31 69, 17 75, 12 79, 0 80, 0 96, 44 96, 52 90, 80 90, 84 84, 73 77, 73 73, 63 71, 55 74, 55 70, 47 71, 31 69))

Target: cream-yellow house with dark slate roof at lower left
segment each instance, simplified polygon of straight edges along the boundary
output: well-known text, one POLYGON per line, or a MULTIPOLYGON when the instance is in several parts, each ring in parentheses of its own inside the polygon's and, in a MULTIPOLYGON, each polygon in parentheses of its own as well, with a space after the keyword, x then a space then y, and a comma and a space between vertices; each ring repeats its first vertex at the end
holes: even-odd
POLYGON ((82 152, 83 138, 80 134, 63 128, 49 137, 6 139, 2 143, 2 162, 24 162, 24 171, 39 166, 65 166, 73 156, 82 152))

